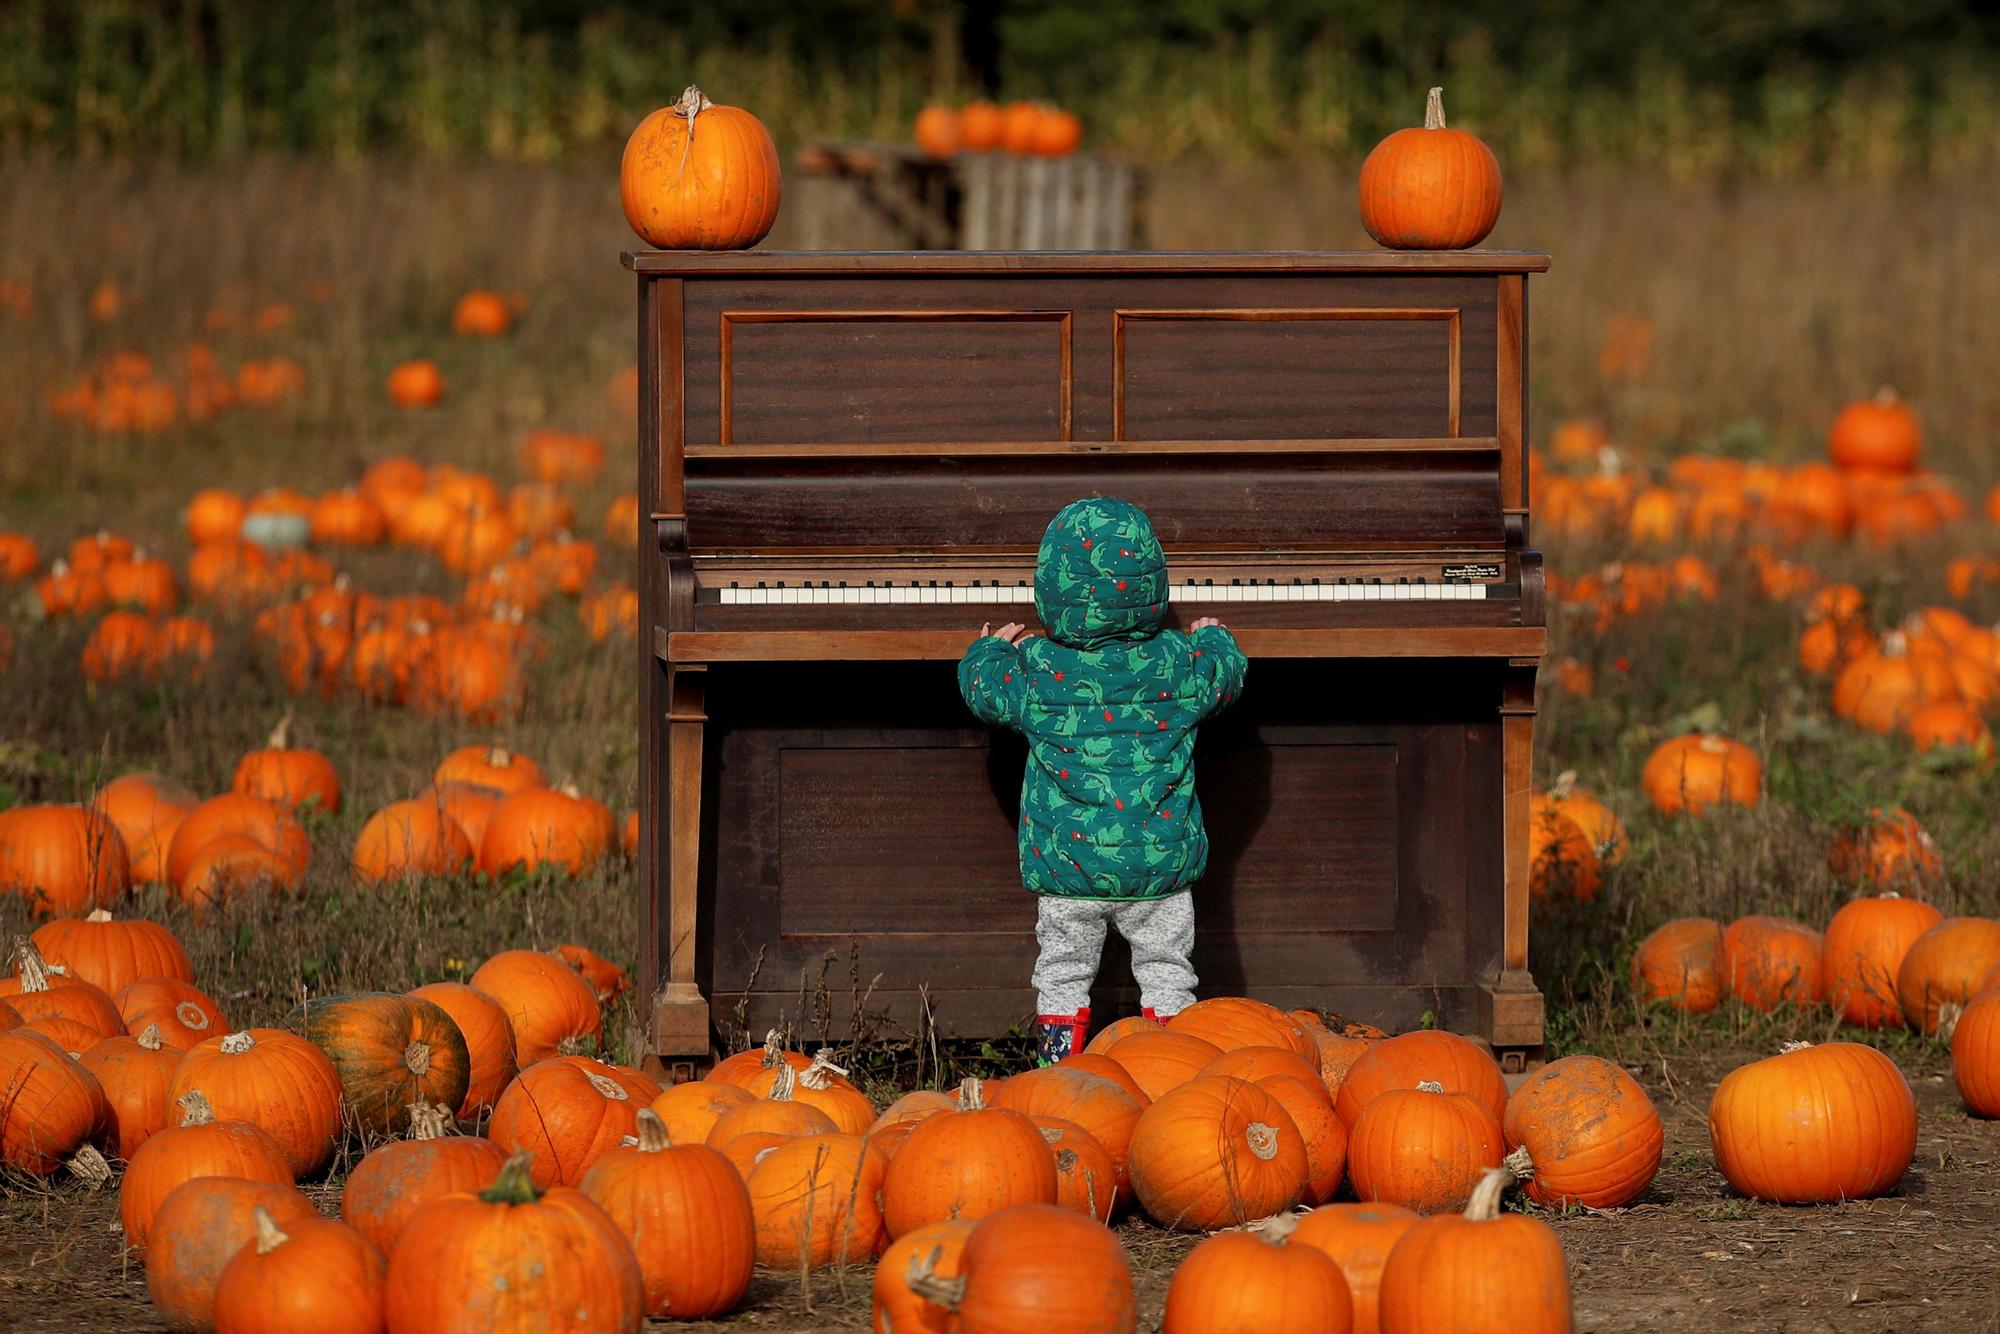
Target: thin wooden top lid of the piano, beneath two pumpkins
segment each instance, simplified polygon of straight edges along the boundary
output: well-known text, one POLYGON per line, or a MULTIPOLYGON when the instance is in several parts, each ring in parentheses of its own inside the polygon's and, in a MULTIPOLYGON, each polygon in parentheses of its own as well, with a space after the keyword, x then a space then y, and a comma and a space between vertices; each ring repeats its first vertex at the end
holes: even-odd
POLYGON ((1536 250, 626 250, 636 274, 1540 274, 1536 250))

